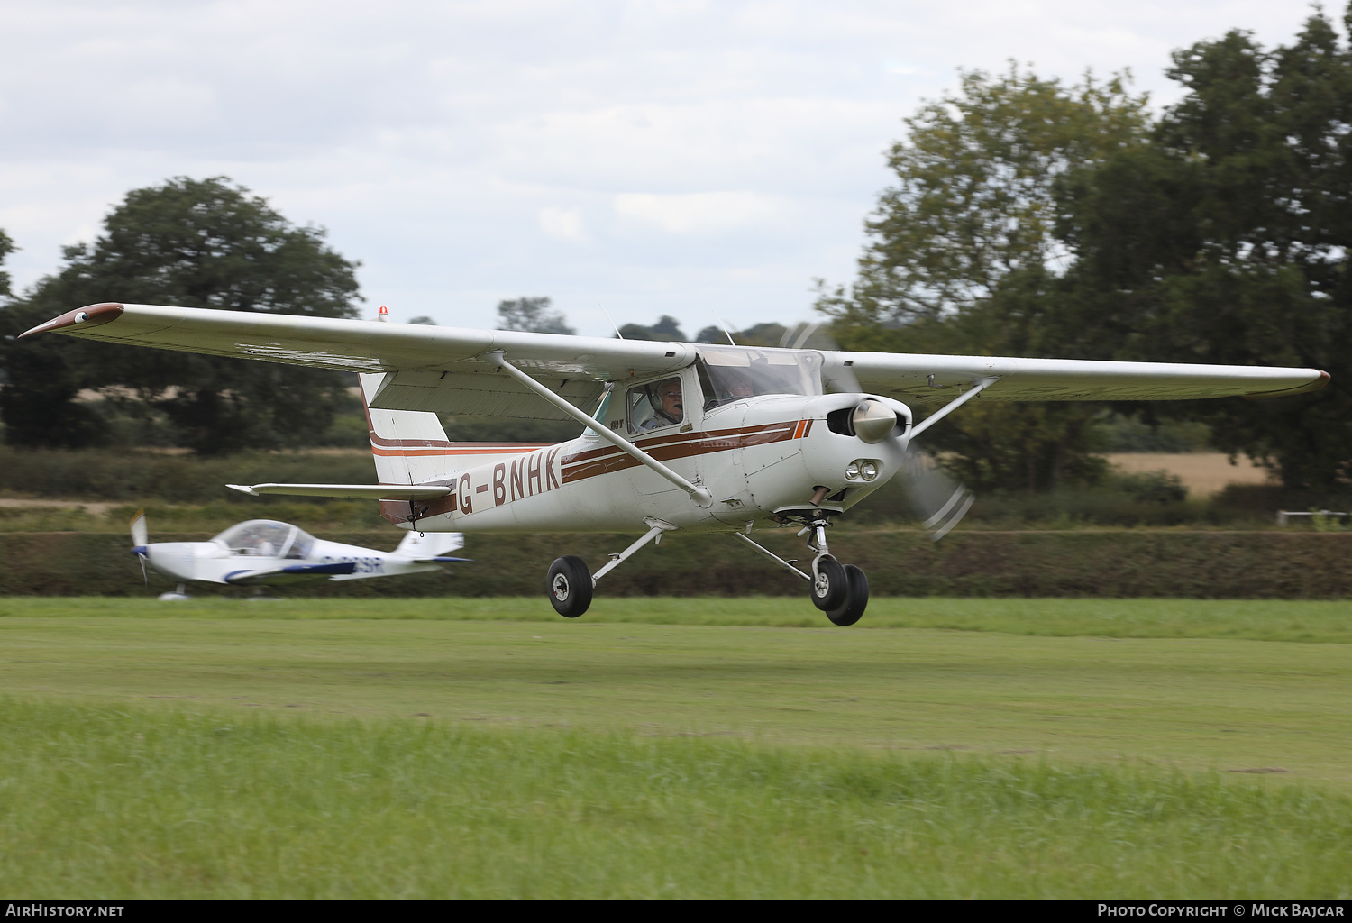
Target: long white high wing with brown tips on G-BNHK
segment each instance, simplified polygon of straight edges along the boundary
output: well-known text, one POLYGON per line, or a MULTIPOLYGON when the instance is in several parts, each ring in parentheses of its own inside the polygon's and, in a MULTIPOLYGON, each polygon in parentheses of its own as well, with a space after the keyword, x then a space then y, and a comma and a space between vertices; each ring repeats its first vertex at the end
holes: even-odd
MULTIPOLYGON (((145 304, 95 304, 23 334, 54 331, 135 346, 235 355, 345 372, 384 373, 370 407, 484 416, 568 419, 484 353, 506 358, 576 405, 596 401, 606 381, 645 377, 695 361, 694 343, 562 336, 502 330, 335 320, 279 314, 145 304)), ((723 347, 727 349, 727 347, 723 347)), ((949 401, 987 380, 995 400, 1180 400, 1276 396, 1321 388, 1318 369, 1023 359, 910 353, 822 351, 827 377, 849 368, 871 393, 949 401)))

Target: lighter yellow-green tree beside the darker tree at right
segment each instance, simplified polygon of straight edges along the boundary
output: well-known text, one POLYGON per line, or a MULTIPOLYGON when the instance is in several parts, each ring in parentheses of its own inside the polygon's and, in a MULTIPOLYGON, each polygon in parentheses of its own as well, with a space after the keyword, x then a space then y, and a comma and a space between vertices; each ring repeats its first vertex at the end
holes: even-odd
MULTIPOLYGON (((1015 66, 964 73, 961 91, 906 119, 907 138, 865 223, 869 242, 850 286, 819 282, 818 309, 846 349, 1098 357, 1059 323, 1053 235, 1057 184, 1071 172, 1145 143, 1146 97, 1126 76, 1075 86, 1015 66)), ((1094 480, 1087 404, 980 401, 926 435, 976 487, 1046 489, 1094 480)))

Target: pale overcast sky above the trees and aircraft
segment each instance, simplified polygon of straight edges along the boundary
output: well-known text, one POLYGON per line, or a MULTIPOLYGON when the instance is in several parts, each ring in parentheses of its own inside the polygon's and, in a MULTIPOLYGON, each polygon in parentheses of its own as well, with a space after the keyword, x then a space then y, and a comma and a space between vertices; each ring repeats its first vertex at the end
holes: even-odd
MULTIPOLYGON (((1341 5, 1330 12, 1341 15, 1341 5)), ((373 315, 492 327, 548 295, 584 334, 811 314, 849 281, 883 151, 959 68, 1073 82, 1274 0, 741 3, 0 0, 0 228, 23 286, 132 188, 227 176, 360 259, 373 315)))

